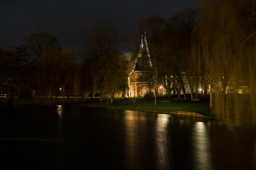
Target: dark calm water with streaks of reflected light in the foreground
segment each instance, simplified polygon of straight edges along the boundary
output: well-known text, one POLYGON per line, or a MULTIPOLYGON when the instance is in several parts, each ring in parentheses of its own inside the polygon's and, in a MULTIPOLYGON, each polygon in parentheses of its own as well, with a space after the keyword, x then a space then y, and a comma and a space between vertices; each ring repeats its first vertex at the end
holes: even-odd
POLYGON ((0 169, 256 169, 256 130, 75 106, 0 113, 0 169))

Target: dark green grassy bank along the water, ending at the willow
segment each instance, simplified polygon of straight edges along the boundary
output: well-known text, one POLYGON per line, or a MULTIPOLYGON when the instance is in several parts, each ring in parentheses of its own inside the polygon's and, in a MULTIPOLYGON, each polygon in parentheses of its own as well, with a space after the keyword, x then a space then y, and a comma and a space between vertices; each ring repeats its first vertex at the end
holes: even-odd
POLYGON ((209 103, 203 102, 178 102, 171 99, 158 99, 157 105, 154 106, 154 99, 137 98, 134 103, 132 100, 125 101, 124 98, 115 98, 114 104, 100 103, 99 98, 44 98, 36 99, 29 98, 23 99, 16 104, 28 105, 57 105, 57 104, 70 104, 82 107, 95 107, 95 108, 114 108, 132 111, 146 111, 156 113, 172 113, 177 111, 200 113, 201 115, 210 115, 209 103))

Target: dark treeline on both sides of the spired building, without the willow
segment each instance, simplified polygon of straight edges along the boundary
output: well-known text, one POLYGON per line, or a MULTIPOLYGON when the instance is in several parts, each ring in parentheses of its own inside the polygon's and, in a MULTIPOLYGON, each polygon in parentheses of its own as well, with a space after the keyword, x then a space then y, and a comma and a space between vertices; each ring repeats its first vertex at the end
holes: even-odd
MULTIPOLYGON (((183 72, 188 70, 191 30, 197 16, 198 10, 189 8, 168 20, 151 16, 139 22, 139 34, 144 31, 147 34, 159 82, 169 96, 171 91, 176 91, 180 97, 183 91, 186 98, 183 72)), ((20 47, 1 49, 1 101, 6 98, 12 103, 14 99, 28 97, 100 96, 101 102, 110 98, 112 103, 114 94, 124 97, 140 35, 129 35, 122 51, 117 35, 117 28, 110 23, 93 24, 85 34, 81 63, 75 62, 75 50, 63 49, 57 38, 42 31, 28 35, 20 47), (134 38, 135 43, 130 41, 134 38)))

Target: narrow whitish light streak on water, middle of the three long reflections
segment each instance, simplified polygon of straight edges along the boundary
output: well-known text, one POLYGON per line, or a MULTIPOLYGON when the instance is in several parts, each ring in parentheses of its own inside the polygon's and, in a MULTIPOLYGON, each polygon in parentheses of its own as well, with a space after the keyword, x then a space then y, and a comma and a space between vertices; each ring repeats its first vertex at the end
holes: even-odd
POLYGON ((168 123, 171 115, 159 114, 156 118, 156 159, 159 162, 158 169, 169 169, 169 152, 167 148, 168 123))

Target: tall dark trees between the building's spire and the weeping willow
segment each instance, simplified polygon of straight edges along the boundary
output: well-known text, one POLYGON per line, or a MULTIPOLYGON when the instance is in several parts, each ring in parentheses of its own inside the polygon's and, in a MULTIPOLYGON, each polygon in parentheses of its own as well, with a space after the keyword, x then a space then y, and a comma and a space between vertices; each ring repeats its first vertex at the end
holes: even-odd
POLYGON ((164 86, 167 96, 180 98, 182 92, 185 101, 186 89, 191 89, 192 101, 199 94, 199 79, 191 60, 191 33, 197 19, 198 9, 188 8, 167 20, 151 16, 139 22, 139 32, 146 32, 158 84, 164 86))

